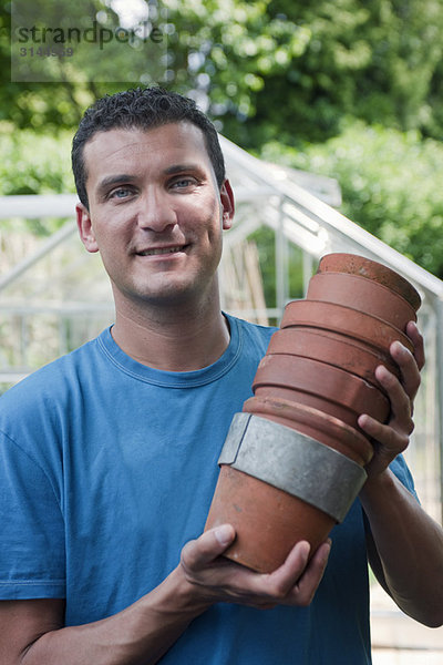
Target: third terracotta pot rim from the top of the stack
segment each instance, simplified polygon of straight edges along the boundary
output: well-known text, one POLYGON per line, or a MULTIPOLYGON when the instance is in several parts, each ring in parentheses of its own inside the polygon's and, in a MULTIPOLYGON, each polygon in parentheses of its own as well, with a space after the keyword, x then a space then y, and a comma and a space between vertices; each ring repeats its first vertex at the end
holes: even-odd
MULTIPOLYGON (((399 340, 403 346, 405 346, 411 351, 411 354, 413 352, 414 347, 413 347, 412 341, 408 337, 408 335, 402 332, 402 330, 400 330, 400 328, 396 328, 393 324, 390 324, 389 321, 385 321, 382 318, 374 316, 372 314, 367 314, 365 311, 361 311, 360 309, 356 309, 353 307, 348 307, 346 305, 338 305, 337 303, 329 303, 328 300, 309 300, 308 298, 300 299, 300 300, 291 300, 285 307, 284 316, 282 316, 281 323, 280 323, 280 329, 302 328, 302 327, 319 328, 320 330, 331 329, 333 332, 343 335, 346 337, 356 338, 360 341, 364 341, 365 344, 368 344, 371 347, 379 348, 379 344, 374 339, 373 335, 363 336, 361 332, 359 332, 358 334, 359 336, 358 336, 352 330, 352 328, 350 329, 349 327, 347 327, 346 323, 349 321, 350 319, 351 319, 351 321, 353 321, 354 325, 356 325, 356 319, 357 319, 359 327, 363 327, 364 329, 369 329, 369 330, 371 328, 373 328, 373 326, 377 324, 379 329, 382 328, 385 331, 390 332, 390 337, 392 337, 392 339, 389 342, 389 346, 393 341, 399 340), (291 316, 290 309, 293 309, 293 307, 298 307, 299 309, 300 308, 302 308, 302 309, 309 308, 310 311, 313 311, 315 314, 317 313, 317 316, 312 317, 313 320, 312 320, 312 318, 310 318, 310 320, 307 320, 307 317, 305 315, 305 320, 302 320, 302 321, 295 320, 293 323, 290 321, 289 324, 287 324, 285 321, 285 318, 288 318, 291 316), (321 310, 323 310, 323 313, 321 313, 321 310), (330 324, 328 324, 328 316, 327 316, 328 310, 329 311, 336 310, 336 314, 340 313, 340 325, 334 324, 334 327, 330 328, 330 324), (341 323, 341 321, 343 321, 343 323, 341 323)), ((388 347, 383 346, 382 348, 385 349, 388 347)))

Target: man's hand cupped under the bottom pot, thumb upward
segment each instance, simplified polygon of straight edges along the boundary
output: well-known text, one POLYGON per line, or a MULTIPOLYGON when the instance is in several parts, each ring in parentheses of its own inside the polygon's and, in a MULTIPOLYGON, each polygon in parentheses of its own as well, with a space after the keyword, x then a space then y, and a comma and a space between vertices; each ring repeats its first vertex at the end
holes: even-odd
POLYGON ((197 598, 259 608, 309 605, 326 569, 329 541, 318 548, 309 563, 309 543, 301 541, 279 569, 260 574, 220 556, 234 539, 234 528, 223 524, 184 546, 181 566, 197 598))

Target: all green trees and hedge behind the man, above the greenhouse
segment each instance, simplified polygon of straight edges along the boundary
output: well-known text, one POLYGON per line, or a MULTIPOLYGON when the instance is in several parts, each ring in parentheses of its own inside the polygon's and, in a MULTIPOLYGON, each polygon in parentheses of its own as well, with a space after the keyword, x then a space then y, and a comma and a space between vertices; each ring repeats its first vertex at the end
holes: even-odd
MULTIPOLYGON (((53 17, 63 1, 33 4, 53 17)), ((163 85, 194 96, 241 146, 265 145, 268 158, 336 177, 347 216, 443 276, 442 149, 422 141, 443 135, 441 0, 161 0, 158 8, 168 35, 163 85)), ((1 192, 72 191, 68 134, 59 132, 72 131, 95 98, 143 83, 134 73, 141 54, 112 51, 120 83, 95 80, 97 61, 86 57, 63 70, 63 83, 11 83, 10 9, 0 0, 1 192)), ((86 13, 119 25, 110 0, 65 9, 79 25, 86 13)))

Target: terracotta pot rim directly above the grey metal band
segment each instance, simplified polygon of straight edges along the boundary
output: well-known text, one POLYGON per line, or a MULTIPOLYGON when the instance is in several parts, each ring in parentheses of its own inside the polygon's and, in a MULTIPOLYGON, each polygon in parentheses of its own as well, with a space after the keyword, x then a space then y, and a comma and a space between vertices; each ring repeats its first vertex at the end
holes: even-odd
POLYGON ((354 446, 359 451, 364 451, 367 453, 364 454, 361 452, 363 458, 368 458, 365 463, 373 457, 373 447, 361 432, 339 418, 324 413, 315 407, 300 405, 285 398, 272 397, 250 397, 244 403, 244 411, 259 415, 259 409, 262 409, 261 412, 269 416, 278 416, 276 409, 280 410, 282 418, 285 418, 285 413, 289 412, 290 418, 293 419, 295 423, 297 423, 298 420, 302 424, 339 439, 344 446, 354 446), (254 410, 248 411, 248 405, 254 405, 254 410))

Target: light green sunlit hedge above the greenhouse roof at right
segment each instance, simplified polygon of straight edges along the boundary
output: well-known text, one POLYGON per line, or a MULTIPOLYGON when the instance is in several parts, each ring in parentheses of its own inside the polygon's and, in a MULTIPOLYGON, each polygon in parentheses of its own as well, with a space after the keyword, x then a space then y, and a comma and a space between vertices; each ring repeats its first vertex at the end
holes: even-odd
POLYGON ((347 217, 443 278, 442 143, 357 122, 322 145, 270 142, 261 155, 337 178, 347 217))

